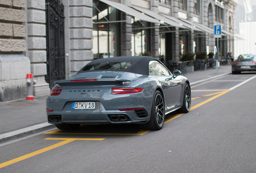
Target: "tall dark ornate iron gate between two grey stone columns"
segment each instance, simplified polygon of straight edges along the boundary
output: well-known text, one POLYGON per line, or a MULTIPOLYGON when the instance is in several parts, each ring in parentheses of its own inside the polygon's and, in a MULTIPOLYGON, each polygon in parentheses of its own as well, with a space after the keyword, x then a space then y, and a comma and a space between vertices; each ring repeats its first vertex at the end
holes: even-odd
POLYGON ((60 0, 45 0, 46 64, 45 81, 54 87, 54 81, 65 79, 64 6, 60 0))

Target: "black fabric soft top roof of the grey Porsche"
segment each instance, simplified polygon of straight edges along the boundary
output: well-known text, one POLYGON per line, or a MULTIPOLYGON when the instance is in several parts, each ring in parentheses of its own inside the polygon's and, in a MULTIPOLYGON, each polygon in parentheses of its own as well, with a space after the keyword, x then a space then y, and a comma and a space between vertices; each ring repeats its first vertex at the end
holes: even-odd
POLYGON ((78 73, 83 72, 92 72, 92 71, 106 71, 106 70, 83 70, 86 66, 91 64, 99 64, 105 62, 131 62, 132 64, 126 69, 108 69, 107 71, 124 71, 124 72, 132 72, 136 74, 149 75, 149 62, 151 60, 157 60, 151 56, 117 56, 111 58, 102 58, 89 62, 85 65, 78 73))

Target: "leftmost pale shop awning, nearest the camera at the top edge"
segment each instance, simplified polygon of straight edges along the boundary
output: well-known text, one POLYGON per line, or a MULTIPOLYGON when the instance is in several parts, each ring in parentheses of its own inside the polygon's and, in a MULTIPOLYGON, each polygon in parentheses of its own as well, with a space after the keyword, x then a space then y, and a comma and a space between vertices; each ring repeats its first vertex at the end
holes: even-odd
POLYGON ((152 22, 152 23, 158 23, 158 24, 161 23, 159 20, 152 18, 150 16, 147 16, 146 14, 143 14, 142 12, 139 12, 131 7, 124 5, 124 4, 120 4, 118 2, 113 2, 113 1, 109 1, 109 0, 100 0, 100 1, 104 2, 105 4, 108 4, 109 6, 112 6, 118 10, 121 10, 122 12, 125 12, 131 16, 139 18, 140 20, 144 20, 144 21, 152 22))

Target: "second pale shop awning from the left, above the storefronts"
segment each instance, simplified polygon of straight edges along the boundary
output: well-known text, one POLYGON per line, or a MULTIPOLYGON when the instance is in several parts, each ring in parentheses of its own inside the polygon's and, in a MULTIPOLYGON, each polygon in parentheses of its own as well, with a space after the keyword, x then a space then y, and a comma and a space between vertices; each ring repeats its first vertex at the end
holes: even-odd
POLYGON ((140 11, 140 12, 143 12, 157 20, 160 20, 161 23, 166 23, 166 24, 169 24, 170 26, 175 26, 175 27, 179 27, 179 28, 185 28, 185 29, 188 29, 188 27, 186 26, 183 26, 182 24, 178 23, 178 22, 175 22, 173 20, 170 20, 168 18, 166 18, 165 16, 162 16, 160 14, 157 14, 156 12, 153 12, 151 10, 147 10, 145 8, 140 8, 140 7, 137 7, 137 6, 132 6, 132 8, 140 11))

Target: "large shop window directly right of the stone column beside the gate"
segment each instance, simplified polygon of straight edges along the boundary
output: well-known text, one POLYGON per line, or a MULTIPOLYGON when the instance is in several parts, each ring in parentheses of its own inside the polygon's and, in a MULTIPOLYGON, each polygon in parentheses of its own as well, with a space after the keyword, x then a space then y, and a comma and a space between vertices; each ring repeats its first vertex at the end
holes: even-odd
POLYGON ((93 2, 93 58, 118 56, 118 10, 93 2))

